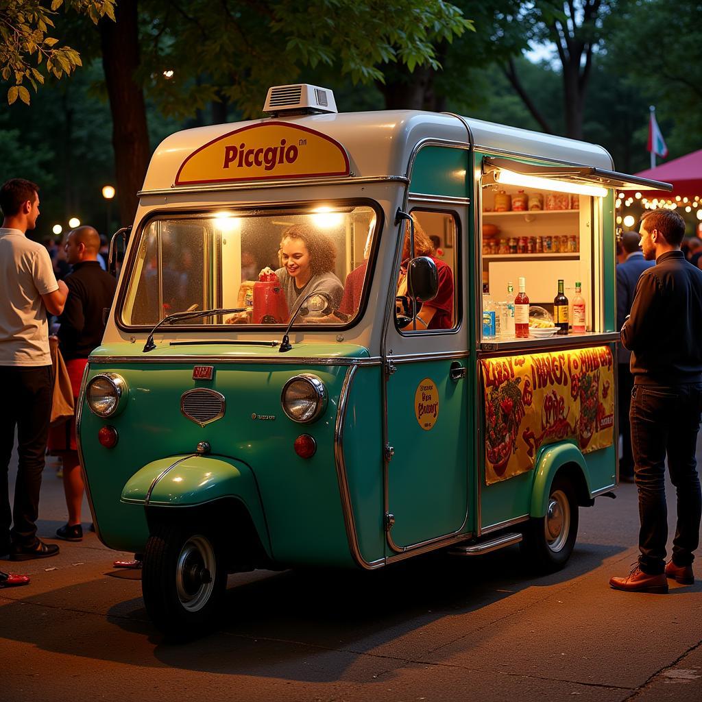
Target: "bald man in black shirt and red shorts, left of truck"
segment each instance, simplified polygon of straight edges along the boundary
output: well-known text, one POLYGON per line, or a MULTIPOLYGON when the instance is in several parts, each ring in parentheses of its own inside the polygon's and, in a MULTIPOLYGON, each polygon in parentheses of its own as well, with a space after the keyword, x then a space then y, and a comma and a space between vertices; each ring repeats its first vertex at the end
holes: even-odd
MULTIPOLYGON (((78 227, 69 232, 65 251, 73 270, 65 278, 70 294, 63 313, 58 317, 58 340, 71 378, 73 396, 77 399, 88 356, 102 343, 105 332, 102 310, 112 306, 117 282, 98 263, 100 234, 93 227, 78 227)), ((77 400, 75 406, 78 407, 77 400)), ((56 531, 56 536, 65 541, 81 541, 84 486, 78 461, 75 420, 51 430, 49 449, 63 459, 63 488, 68 508, 68 522, 56 531)))

